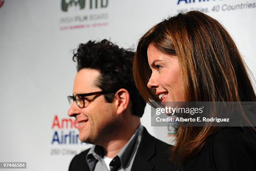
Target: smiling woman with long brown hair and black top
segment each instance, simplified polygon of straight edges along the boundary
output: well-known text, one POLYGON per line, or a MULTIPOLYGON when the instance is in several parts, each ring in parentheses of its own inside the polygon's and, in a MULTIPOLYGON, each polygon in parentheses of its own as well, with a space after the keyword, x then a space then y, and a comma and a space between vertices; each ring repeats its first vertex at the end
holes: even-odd
MULTIPOLYGON (((138 42, 133 76, 151 106, 159 101, 256 102, 234 41, 217 20, 198 11, 179 13, 148 30, 138 42)), ((252 125, 180 126, 172 149, 183 171, 255 171, 255 156, 252 125)))

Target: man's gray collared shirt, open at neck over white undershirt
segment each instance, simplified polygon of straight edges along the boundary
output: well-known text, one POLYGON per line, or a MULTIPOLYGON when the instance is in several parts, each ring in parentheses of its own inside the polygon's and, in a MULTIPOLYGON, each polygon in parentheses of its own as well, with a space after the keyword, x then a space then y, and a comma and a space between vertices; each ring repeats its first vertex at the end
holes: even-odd
MULTIPOLYGON (((140 124, 131 139, 110 162, 110 171, 131 171, 138 146, 141 142, 142 131, 143 126, 140 124)), ((103 157, 103 147, 97 145, 92 146, 86 156, 90 171, 108 171, 108 167, 105 164, 103 157)))

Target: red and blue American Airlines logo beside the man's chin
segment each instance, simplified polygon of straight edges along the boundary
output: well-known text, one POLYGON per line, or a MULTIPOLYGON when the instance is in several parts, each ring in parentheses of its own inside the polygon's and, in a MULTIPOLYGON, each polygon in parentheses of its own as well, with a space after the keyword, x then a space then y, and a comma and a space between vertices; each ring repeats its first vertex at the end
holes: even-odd
POLYGON ((51 136, 52 148, 50 155, 72 155, 78 154, 78 151, 74 149, 75 145, 84 145, 78 136, 77 122, 71 118, 59 118, 58 115, 54 116, 51 124, 53 135, 51 136))

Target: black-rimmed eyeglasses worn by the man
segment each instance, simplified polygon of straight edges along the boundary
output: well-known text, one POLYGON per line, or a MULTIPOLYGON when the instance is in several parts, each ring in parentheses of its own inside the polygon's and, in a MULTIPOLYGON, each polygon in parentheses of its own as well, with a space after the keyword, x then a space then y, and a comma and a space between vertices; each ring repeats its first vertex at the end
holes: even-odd
POLYGON ((76 102, 79 108, 84 108, 84 107, 87 107, 90 104, 90 102, 92 102, 96 97, 102 94, 109 94, 109 93, 114 93, 114 92, 110 92, 110 91, 92 92, 92 93, 86 93, 86 94, 77 94, 75 96, 68 96, 67 98, 70 105, 76 102), (86 98, 87 96, 92 96, 92 95, 96 95, 96 96, 93 97, 92 99, 86 98))

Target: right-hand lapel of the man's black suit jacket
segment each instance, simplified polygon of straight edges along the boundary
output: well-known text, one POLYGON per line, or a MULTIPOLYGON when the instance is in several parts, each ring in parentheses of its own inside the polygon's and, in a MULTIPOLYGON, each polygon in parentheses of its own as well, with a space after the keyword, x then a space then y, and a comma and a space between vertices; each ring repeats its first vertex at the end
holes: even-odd
POLYGON ((155 153, 156 139, 151 136, 144 127, 141 143, 138 147, 131 171, 152 171, 154 166, 148 161, 155 155, 155 153))

